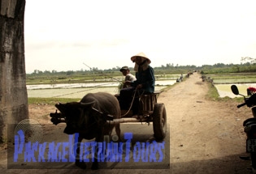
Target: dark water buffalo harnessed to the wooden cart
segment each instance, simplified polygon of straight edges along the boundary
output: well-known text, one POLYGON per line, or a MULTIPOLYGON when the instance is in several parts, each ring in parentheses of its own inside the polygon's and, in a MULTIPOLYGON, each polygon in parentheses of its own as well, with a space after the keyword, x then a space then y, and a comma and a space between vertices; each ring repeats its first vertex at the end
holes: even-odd
MULTIPOLYGON (((80 102, 55 104, 55 107, 65 117, 67 127, 64 129, 64 133, 79 133, 78 142, 81 142, 83 138, 95 138, 96 142, 102 142, 104 135, 110 135, 114 126, 120 140, 119 125, 106 124, 102 114, 93 110, 96 108, 99 112, 119 118, 121 116, 119 102, 114 95, 106 92, 89 93, 80 102)), ((77 148, 76 156, 79 155, 79 152, 80 147, 77 148)), ((76 159, 76 165, 80 168, 86 168, 85 163, 80 163, 80 159, 76 159)), ((94 155, 92 169, 98 169, 96 155, 94 155)))

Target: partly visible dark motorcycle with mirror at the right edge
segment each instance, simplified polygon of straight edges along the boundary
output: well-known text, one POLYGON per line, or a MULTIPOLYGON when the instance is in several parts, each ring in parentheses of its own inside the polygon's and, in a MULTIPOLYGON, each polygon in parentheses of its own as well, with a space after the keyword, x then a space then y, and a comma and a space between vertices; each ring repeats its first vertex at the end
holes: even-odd
MULTIPOLYGON (((231 86, 232 93, 235 95, 241 95, 238 91, 236 85, 231 86)), ((237 108, 247 106, 252 109, 253 116, 249 119, 246 119, 243 122, 244 131, 247 136, 246 138, 246 153, 250 154, 249 157, 240 157, 241 159, 251 160, 253 170, 256 170, 256 93, 248 97, 244 96, 245 102, 243 104, 237 105, 237 108)))

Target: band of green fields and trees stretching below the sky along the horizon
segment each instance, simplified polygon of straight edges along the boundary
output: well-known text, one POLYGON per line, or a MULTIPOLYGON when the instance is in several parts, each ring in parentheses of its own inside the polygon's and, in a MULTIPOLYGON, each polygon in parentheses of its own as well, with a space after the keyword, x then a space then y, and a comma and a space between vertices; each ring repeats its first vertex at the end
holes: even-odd
MULTIPOLYGON (((98 70, 98 68, 91 68, 90 70, 67 70, 67 72, 56 70, 34 70, 32 74, 27 74, 27 84, 52 84, 52 83, 89 83, 95 81, 116 81, 115 77, 122 76, 119 71, 120 67, 115 67, 108 70, 98 70)), ((130 67, 131 73, 135 74, 132 67, 130 67)), ((232 73, 255 73, 256 64, 246 62, 244 64, 223 64, 217 63, 213 66, 174 66, 173 64, 167 64, 166 66, 154 67, 154 74, 156 78, 166 77, 166 74, 188 74, 197 70, 201 74, 232 74, 232 73)))

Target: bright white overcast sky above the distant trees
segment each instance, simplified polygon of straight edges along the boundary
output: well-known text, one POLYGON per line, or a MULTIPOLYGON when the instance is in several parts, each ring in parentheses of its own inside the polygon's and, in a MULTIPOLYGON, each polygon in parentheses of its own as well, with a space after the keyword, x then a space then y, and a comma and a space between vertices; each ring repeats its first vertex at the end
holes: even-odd
POLYGON ((26 0, 26 73, 240 64, 256 58, 254 0, 26 0), (85 64, 84 64, 85 63, 85 64))

